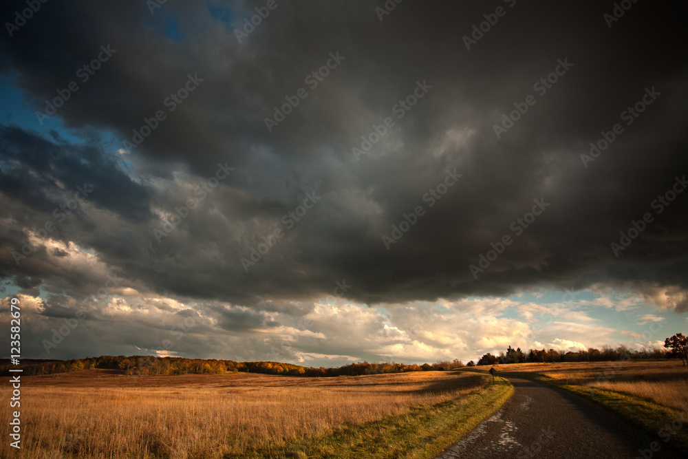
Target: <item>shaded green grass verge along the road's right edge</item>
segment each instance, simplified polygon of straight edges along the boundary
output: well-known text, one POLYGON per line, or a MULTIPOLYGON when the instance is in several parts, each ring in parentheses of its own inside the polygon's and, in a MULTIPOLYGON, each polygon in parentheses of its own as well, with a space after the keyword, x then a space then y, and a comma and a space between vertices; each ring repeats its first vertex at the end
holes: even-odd
POLYGON ((645 398, 621 392, 561 383, 557 379, 541 374, 521 372, 504 372, 503 374, 533 379, 573 392, 645 431, 649 440, 658 442, 663 451, 666 449, 688 451, 688 412, 658 405, 645 398))

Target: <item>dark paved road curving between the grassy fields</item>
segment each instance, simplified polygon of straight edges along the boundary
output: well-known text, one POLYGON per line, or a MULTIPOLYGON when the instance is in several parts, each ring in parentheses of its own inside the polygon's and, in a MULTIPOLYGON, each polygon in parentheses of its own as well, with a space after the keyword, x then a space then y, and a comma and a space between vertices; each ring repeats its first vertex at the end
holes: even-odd
POLYGON ((666 448, 652 451, 651 443, 658 438, 640 434, 579 396, 536 381, 508 380, 514 386, 513 397, 438 458, 685 457, 666 448))

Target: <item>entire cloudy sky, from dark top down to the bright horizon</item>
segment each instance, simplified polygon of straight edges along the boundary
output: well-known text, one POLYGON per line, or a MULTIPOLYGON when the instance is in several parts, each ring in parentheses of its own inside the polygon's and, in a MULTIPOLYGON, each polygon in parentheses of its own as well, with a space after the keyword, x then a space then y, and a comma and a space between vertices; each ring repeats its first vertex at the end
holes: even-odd
POLYGON ((468 361, 688 328, 685 2, 27 3, 0 16, 23 357, 468 361))

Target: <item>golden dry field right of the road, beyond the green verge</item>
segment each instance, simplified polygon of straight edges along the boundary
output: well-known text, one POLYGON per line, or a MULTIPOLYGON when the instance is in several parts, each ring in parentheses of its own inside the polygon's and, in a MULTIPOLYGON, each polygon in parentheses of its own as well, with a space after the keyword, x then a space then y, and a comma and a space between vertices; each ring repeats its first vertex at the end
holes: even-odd
POLYGON ((688 367, 676 360, 512 363, 496 368, 500 372, 533 372, 562 383, 611 390, 665 407, 688 409, 688 367))

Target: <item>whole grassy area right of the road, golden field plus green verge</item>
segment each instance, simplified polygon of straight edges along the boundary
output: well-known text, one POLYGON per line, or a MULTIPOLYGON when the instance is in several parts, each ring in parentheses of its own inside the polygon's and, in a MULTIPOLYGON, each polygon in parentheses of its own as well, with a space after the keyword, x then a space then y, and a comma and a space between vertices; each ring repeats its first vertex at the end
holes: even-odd
MULTIPOLYGON (((490 367, 477 367, 482 371, 490 367)), ((688 367, 677 361, 515 363, 499 373, 538 379, 574 392, 688 450, 688 367)))

